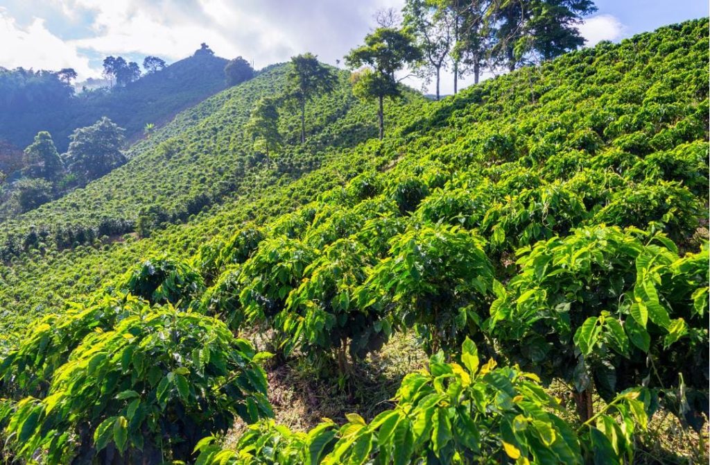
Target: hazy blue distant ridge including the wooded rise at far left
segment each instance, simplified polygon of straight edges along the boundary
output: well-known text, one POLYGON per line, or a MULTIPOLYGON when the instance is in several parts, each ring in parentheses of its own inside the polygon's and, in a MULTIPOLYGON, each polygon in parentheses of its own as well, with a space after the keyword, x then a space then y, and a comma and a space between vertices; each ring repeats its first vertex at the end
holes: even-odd
MULTIPOLYGON (((153 57, 155 58, 155 57, 153 57)), ((156 62, 138 80, 127 78, 124 87, 88 90, 74 95, 59 73, 0 68, 0 140, 28 146, 40 131, 54 137, 60 152, 69 145, 77 127, 109 117, 126 128, 126 137, 141 137, 147 123, 164 124, 190 105, 224 89, 227 60, 196 54, 170 66, 156 62)))

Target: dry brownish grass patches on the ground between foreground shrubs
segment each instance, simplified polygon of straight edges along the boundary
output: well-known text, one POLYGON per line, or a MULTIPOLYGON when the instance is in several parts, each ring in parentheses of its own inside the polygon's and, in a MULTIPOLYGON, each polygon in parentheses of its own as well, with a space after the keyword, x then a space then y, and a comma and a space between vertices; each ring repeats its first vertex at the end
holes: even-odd
MULTIPOLYGON (((369 421, 393 406, 391 398, 402 378, 407 373, 425 368, 426 362, 427 356, 412 333, 394 336, 381 351, 371 354, 365 363, 355 367, 348 380, 340 380, 340 383, 334 374, 334 366, 314 367, 292 360, 267 370, 269 401, 273 405, 275 422, 295 431, 307 431, 322 418, 342 424, 346 421, 345 414, 349 412, 357 412, 369 421), (317 373, 323 369, 330 370, 331 374, 319 376, 317 373)), ((555 382, 547 391, 557 397, 564 407, 555 413, 570 424, 579 424, 571 388, 555 382)), ((599 397, 594 398, 595 412, 604 405, 599 397)), ((234 447, 244 427, 244 423, 237 422, 226 437, 226 447, 234 447)), ((701 438, 692 429, 682 427, 670 412, 660 410, 651 418, 648 430, 638 435, 633 463, 707 464, 710 457, 707 422, 704 428, 701 438)))

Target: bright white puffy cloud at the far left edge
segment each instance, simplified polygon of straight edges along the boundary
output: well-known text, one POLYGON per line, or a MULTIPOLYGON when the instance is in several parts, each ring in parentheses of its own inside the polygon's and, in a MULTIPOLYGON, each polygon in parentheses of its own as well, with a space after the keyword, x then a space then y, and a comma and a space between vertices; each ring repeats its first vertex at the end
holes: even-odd
POLYGON ((97 74, 89 67, 87 57, 48 31, 40 18, 33 18, 29 26, 21 28, 6 9, 0 8, 0 43, 0 65, 4 68, 74 68, 80 79, 97 74))

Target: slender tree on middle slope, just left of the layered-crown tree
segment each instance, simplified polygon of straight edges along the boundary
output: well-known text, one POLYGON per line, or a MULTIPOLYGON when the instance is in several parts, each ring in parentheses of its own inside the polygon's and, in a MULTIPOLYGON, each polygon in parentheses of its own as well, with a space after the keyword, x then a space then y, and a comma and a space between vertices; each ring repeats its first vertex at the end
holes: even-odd
POLYGON ((322 65, 316 55, 304 53, 291 57, 291 66, 286 75, 287 99, 295 102, 301 112, 301 144, 306 141, 306 103, 317 95, 332 92, 337 76, 322 65))

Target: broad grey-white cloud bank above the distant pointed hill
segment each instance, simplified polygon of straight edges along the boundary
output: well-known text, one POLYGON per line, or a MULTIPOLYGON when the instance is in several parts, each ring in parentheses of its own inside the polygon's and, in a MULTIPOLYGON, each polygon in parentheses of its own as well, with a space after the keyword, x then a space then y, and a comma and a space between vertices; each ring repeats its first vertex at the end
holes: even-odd
POLYGON ((328 63, 362 41, 381 8, 403 0, 53 0, 67 18, 90 13, 90 36, 70 46, 102 55, 177 60, 206 42, 217 55, 242 55, 257 67, 312 51, 328 63))

